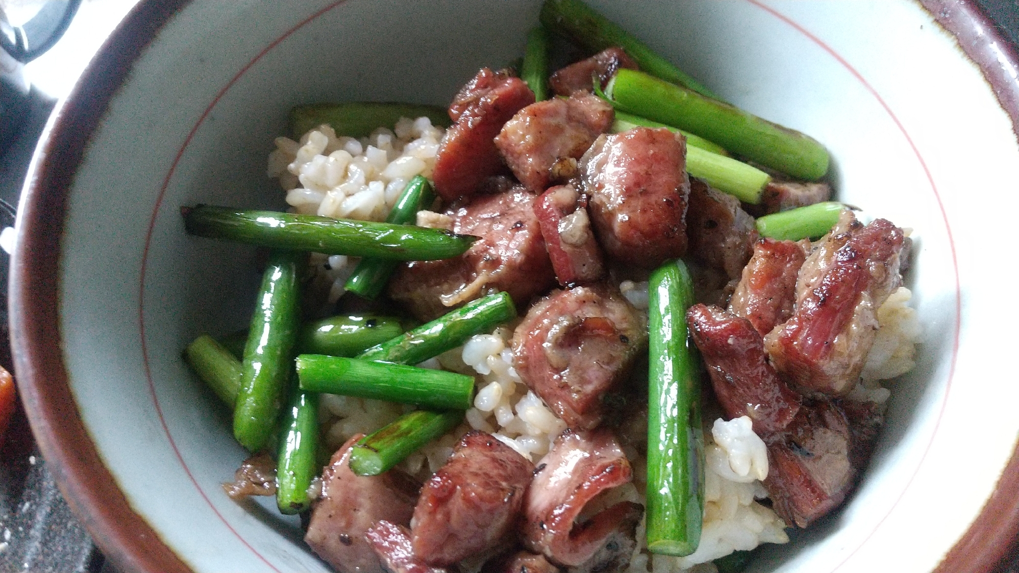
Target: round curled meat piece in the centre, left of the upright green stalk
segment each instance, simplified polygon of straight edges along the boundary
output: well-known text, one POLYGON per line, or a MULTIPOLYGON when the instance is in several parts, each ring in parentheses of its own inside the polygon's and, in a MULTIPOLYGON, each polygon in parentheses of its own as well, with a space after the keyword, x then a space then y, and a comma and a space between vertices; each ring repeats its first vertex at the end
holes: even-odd
POLYGON ((531 307, 514 332, 514 367, 567 425, 589 429, 646 344, 646 317, 619 291, 577 287, 531 307))

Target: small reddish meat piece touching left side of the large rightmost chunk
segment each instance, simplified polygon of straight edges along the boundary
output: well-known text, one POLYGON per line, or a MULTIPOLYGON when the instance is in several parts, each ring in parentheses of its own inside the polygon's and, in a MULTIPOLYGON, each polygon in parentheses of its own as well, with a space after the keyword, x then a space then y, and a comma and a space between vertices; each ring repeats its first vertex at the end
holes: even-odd
POLYGON ((754 256, 743 268, 729 311, 749 320, 761 336, 789 320, 796 302, 796 278, 809 249, 808 240, 795 243, 765 238, 754 243, 754 256))

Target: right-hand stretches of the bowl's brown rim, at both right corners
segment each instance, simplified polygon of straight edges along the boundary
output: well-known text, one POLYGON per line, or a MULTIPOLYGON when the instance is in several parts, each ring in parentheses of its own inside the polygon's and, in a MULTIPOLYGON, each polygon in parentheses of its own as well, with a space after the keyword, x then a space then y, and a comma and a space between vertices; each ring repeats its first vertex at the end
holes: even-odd
MULTIPOLYGON (((956 37, 959 48, 979 66, 998 102, 1012 118, 1019 140, 1019 48, 1002 36, 974 0, 920 0, 934 19, 956 37)), ((1017 548, 1019 536, 1019 444, 980 514, 956 541, 934 573, 988 573, 1017 548)))

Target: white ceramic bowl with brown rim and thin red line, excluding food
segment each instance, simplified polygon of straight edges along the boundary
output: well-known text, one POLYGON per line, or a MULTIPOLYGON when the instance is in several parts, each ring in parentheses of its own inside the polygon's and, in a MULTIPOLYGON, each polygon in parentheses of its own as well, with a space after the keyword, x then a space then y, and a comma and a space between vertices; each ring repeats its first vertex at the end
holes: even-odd
MULTIPOLYGON (((918 238, 919 361, 862 484, 752 570, 988 568, 1019 526, 1015 52, 950 0, 592 4, 821 141, 839 197, 918 238)), ((17 374, 58 482, 124 571, 326 570, 294 520, 220 490, 245 452, 179 356, 244 324, 258 276, 250 249, 187 237, 178 207, 281 206, 265 160, 290 106, 445 105, 522 52, 539 5, 145 1, 59 105, 18 220, 17 374)))

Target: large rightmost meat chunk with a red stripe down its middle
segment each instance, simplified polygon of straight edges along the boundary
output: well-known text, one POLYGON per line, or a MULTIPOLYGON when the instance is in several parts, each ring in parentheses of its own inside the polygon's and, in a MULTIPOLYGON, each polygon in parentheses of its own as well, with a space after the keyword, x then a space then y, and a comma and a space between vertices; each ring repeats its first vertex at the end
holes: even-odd
POLYGON ((806 390, 853 388, 874 342, 875 312, 902 282, 902 229, 891 222, 864 226, 843 211, 800 269, 792 318, 764 336, 780 374, 806 390))

